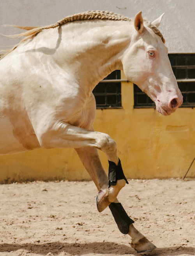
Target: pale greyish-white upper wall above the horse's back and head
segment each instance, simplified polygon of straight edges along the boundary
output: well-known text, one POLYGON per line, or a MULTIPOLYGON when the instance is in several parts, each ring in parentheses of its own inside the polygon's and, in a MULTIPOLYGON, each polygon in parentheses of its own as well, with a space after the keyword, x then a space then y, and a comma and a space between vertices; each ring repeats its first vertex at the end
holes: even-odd
MULTIPOLYGON (((138 11, 150 21, 163 12, 160 31, 170 53, 195 53, 195 0, 0 0, 0 25, 50 25, 65 16, 108 10, 133 18, 138 11)), ((12 28, 0 28, 12 34, 12 28)), ((14 44, 0 36, 0 46, 14 44)))

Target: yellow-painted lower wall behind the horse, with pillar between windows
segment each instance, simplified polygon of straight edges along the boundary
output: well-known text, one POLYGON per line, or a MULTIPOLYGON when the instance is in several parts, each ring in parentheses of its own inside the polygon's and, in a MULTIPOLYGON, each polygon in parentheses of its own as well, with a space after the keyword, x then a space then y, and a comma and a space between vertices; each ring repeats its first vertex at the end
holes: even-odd
MULTIPOLYGON (((133 108, 133 84, 123 82, 121 91, 123 108, 98 109, 94 129, 117 142, 126 177, 183 177, 195 157, 195 110, 179 108, 170 116, 161 116, 153 108, 133 108)), ((100 157, 107 171, 106 156, 100 152, 100 157)), ((192 165, 188 177, 195 177, 194 169, 192 165)), ((1 183, 90 180, 74 149, 0 156, 0 171, 1 183)))

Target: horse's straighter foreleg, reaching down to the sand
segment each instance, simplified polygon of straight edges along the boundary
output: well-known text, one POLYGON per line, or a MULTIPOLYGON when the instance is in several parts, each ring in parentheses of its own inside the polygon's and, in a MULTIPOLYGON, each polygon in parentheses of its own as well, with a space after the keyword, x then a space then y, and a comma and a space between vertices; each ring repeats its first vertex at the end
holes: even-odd
POLYGON ((116 196, 120 191, 120 187, 117 187, 117 185, 109 187, 109 180, 99 159, 97 149, 78 148, 75 150, 85 166, 85 169, 96 184, 97 189, 100 191, 99 196, 103 197, 104 205, 109 205, 119 230, 121 233, 131 236, 131 246, 138 252, 155 249, 156 246, 147 240, 147 238, 133 226, 134 221, 129 218, 121 203, 117 200, 116 196), (112 203, 113 201, 114 203, 112 203))

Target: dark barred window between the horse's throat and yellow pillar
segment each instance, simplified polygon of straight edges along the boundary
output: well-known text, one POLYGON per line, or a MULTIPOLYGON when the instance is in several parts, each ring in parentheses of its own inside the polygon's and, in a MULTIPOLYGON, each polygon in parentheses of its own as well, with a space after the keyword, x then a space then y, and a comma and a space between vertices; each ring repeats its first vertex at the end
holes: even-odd
POLYGON ((115 70, 94 88, 96 108, 121 108, 121 71, 115 70))

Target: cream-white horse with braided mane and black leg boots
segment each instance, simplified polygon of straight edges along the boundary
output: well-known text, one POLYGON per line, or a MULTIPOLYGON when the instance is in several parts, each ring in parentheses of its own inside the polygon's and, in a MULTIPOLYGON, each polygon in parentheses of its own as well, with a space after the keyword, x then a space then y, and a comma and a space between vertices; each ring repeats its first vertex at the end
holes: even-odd
POLYGON ((94 131, 94 87, 121 69, 167 116, 183 101, 165 39, 138 12, 135 18, 87 11, 44 27, 21 27, 20 43, 0 60, 0 154, 33 149, 74 148, 99 193, 97 210, 109 206, 119 230, 138 252, 156 248, 134 226, 117 195, 128 183, 117 144, 94 131), (108 176, 98 149, 109 161, 108 176))

